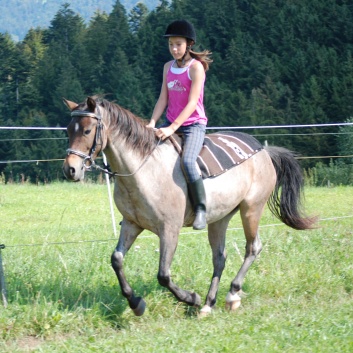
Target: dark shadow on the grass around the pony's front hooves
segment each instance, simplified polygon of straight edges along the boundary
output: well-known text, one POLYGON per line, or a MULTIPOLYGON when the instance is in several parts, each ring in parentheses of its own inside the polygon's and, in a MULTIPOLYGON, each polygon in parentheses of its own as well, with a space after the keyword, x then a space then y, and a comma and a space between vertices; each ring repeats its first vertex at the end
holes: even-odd
MULTIPOLYGON (((145 299, 147 307, 157 310, 163 309, 163 305, 172 305, 172 310, 178 306, 185 317, 197 316, 198 308, 189 307, 179 303, 172 293, 161 287, 157 279, 142 280, 134 277, 129 281, 137 296, 145 299), (159 308, 159 309, 158 309, 159 308)), ((54 282, 37 284, 33 280, 25 281, 25 277, 12 278, 8 283, 9 304, 19 304, 21 306, 43 306, 43 311, 51 312, 76 312, 95 311, 97 316, 103 319, 114 329, 124 329, 129 326, 129 319, 126 311, 130 311, 127 300, 121 294, 121 289, 116 280, 116 285, 110 283, 90 283, 85 281, 84 286, 79 283, 63 284, 59 279, 54 282), (13 292, 11 288, 17 290, 13 292)), ((132 311, 131 311, 132 314, 132 311)), ((133 314, 132 314, 133 315, 133 314)))

